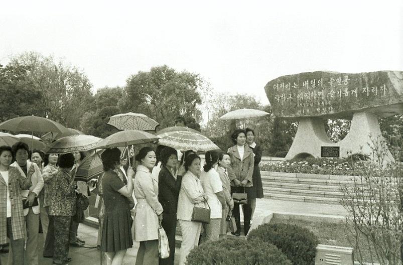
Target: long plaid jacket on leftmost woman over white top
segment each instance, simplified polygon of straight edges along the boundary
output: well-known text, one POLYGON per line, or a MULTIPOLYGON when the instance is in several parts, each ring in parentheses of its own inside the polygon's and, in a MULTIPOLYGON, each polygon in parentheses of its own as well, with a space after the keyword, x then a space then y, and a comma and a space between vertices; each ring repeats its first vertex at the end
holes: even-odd
MULTIPOLYGON (((14 167, 9 167, 9 192, 11 200, 11 224, 14 239, 24 238, 25 221, 21 190, 32 186, 31 179, 26 179, 14 167)), ((7 184, 0 175, 0 244, 7 243, 7 184)))

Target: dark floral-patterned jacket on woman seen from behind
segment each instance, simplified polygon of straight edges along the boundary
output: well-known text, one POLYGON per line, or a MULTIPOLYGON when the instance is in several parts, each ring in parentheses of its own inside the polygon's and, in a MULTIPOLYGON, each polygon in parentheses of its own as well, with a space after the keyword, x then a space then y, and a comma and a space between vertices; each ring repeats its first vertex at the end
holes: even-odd
POLYGON ((76 192, 69 172, 59 172, 49 181, 49 215, 73 216, 76 213, 76 192))

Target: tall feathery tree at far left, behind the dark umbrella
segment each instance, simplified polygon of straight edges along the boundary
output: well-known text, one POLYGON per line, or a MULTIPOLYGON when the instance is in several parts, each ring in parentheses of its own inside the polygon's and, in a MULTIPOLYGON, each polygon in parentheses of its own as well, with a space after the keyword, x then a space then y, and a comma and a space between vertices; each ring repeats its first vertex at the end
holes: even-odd
POLYGON ((92 103, 92 85, 81 70, 36 52, 13 57, 10 66, 28 69, 30 89, 42 92, 42 98, 36 101, 41 116, 68 127, 79 127, 81 116, 92 103))

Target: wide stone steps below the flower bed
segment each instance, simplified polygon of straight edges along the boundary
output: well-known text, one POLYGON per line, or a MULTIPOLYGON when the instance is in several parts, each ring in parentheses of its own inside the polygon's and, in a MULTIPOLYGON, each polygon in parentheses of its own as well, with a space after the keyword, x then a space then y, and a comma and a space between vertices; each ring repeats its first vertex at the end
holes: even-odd
POLYGON ((354 176, 298 174, 261 171, 264 198, 339 204, 342 187, 352 186, 354 176))

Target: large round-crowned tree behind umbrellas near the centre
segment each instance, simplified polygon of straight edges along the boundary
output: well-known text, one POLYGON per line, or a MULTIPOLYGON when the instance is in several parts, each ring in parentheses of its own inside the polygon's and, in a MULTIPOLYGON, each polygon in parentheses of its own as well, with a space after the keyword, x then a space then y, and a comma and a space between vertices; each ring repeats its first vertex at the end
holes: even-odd
POLYGON ((162 126, 172 126, 178 115, 199 119, 201 83, 197 74, 177 72, 167 65, 152 67, 149 72, 140 71, 127 79, 119 108, 144 113, 162 126))

